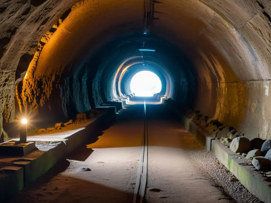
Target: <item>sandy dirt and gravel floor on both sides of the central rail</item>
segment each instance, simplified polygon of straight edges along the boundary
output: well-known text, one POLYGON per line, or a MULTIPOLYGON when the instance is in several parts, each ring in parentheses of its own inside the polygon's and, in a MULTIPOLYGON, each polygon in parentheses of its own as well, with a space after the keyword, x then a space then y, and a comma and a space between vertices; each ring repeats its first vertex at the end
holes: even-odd
MULTIPOLYGON (((143 105, 130 105, 95 143, 7 202, 132 202, 144 130, 143 105), (85 169, 85 171, 82 171, 85 169), (87 169, 87 170, 86 170, 87 169)), ((147 105, 148 179, 144 202, 260 202, 161 105, 147 105)))

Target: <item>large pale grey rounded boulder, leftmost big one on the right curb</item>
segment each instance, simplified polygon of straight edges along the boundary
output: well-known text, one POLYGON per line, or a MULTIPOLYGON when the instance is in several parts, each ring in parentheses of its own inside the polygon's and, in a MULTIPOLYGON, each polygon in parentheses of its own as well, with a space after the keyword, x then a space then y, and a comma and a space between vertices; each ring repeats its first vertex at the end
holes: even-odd
POLYGON ((250 140, 246 137, 236 137, 231 142, 230 149, 235 153, 247 153, 250 149, 250 140))

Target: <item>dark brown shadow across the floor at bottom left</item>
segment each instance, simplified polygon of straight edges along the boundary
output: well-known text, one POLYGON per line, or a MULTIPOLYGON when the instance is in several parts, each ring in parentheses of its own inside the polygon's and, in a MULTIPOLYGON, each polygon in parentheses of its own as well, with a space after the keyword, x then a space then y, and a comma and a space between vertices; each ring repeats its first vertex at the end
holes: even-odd
MULTIPOLYGON (((50 169, 45 175, 38 178, 31 185, 3 203, 10 202, 96 202, 96 203, 118 203, 131 202, 133 193, 115 189, 114 184, 109 186, 95 182, 86 181, 82 176, 91 175, 91 171, 78 172, 76 178, 68 174, 61 174, 67 171, 69 161, 64 160, 50 169), (112 186, 112 187, 111 187, 112 186)), ((99 177, 102 178, 102 177, 99 177)), ((87 178, 86 178, 87 179, 87 178)), ((1 201, 2 202, 2 201, 1 201)))

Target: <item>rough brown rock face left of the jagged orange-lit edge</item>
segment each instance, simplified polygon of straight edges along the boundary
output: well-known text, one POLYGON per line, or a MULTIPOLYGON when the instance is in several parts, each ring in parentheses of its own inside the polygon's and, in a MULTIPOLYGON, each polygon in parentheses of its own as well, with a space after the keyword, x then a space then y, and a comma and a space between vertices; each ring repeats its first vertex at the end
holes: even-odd
MULTIPOLYGON (((0 2, 0 136, 15 118, 15 86, 24 78, 41 37, 76 1, 0 2)), ((7 137, 5 137, 7 139, 7 137)))

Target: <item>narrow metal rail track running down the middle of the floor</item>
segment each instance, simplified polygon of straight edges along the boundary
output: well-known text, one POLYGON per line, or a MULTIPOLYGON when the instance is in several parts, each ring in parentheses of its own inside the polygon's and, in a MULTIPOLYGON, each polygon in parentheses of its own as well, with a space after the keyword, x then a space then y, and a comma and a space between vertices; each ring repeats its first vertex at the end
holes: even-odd
POLYGON ((133 203, 142 203, 147 185, 148 172, 148 123, 146 115, 146 101, 144 101, 144 132, 142 134, 142 146, 134 189, 133 203))

